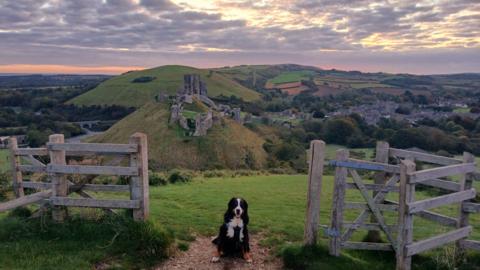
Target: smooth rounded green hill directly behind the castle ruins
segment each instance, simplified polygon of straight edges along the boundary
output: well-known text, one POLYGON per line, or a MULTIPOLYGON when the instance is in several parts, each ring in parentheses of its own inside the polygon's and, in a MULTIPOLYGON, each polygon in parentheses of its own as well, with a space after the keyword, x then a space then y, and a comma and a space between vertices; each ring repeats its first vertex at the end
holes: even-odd
POLYGON ((141 107, 152 101, 160 91, 174 94, 183 85, 184 74, 200 74, 207 84, 208 95, 237 96, 246 101, 256 100, 260 94, 218 72, 187 66, 161 66, 133 71, 111 78, 95 89, 84 93, 69 103, 77 105, 124 105, 141 107), (153 80, 151 80, 153 79, 153 80), (134 80, 138 82, 134 82, 134 80), (143 81, 143 82, 142 82, 143 81))

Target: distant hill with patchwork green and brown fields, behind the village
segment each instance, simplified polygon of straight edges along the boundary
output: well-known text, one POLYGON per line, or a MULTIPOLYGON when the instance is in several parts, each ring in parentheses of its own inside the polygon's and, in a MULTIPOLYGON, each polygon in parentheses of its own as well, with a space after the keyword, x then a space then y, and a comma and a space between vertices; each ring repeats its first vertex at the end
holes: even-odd
POLYGON ((411 91, 428 96, 435 91, 478 89, 479 74, 412 75, 366 73, 360 71, 324 70, 295 64, 242 65, 218 68, 216 71, 245 87, 262 90, 279 89, 289 95, 309 91, 317 96, 368 89, 398 95, 411 91), (292 85, 295 84, 294 87, 292 85), (297 86, 296 84, 301 84, 297 86))

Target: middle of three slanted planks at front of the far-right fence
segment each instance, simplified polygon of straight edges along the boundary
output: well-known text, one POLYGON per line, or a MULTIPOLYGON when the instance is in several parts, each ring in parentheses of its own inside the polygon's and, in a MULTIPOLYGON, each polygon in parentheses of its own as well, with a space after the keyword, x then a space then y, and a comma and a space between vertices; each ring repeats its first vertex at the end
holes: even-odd
POLYGON ((475 189, 459 191, 447 195, 438 196, 435 198, 425 199, 421 201, 411 202, 407 205, 410 214, 418 213, 427 209, 439 207, 442 205, 459 203, 465 200, 475 198, 475 189))

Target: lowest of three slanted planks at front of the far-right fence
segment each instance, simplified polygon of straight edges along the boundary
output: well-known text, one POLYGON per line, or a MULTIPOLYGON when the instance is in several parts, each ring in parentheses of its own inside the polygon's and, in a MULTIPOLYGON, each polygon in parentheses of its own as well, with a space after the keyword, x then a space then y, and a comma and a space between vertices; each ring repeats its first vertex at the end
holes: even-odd
POLYGON ((471 231, 472 226, 467 226, 465 228, 460 228, 442 235, 437 235, 432 238, 409 244, 405 247, 407 256, 413 256, 415 254, 466 238, 470 235, 471 231))

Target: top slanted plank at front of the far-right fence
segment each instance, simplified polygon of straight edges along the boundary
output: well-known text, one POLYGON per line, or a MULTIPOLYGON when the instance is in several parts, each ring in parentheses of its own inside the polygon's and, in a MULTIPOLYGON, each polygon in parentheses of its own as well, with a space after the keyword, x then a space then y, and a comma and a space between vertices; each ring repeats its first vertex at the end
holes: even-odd
POLYGON ((429 179, 442 178, 464 173, 471 173, 476 170, 475 163, 464 163, 457 165, 450 165, 432 169, 417 171, 410 175, 410 183, 420 183, 429 179))

